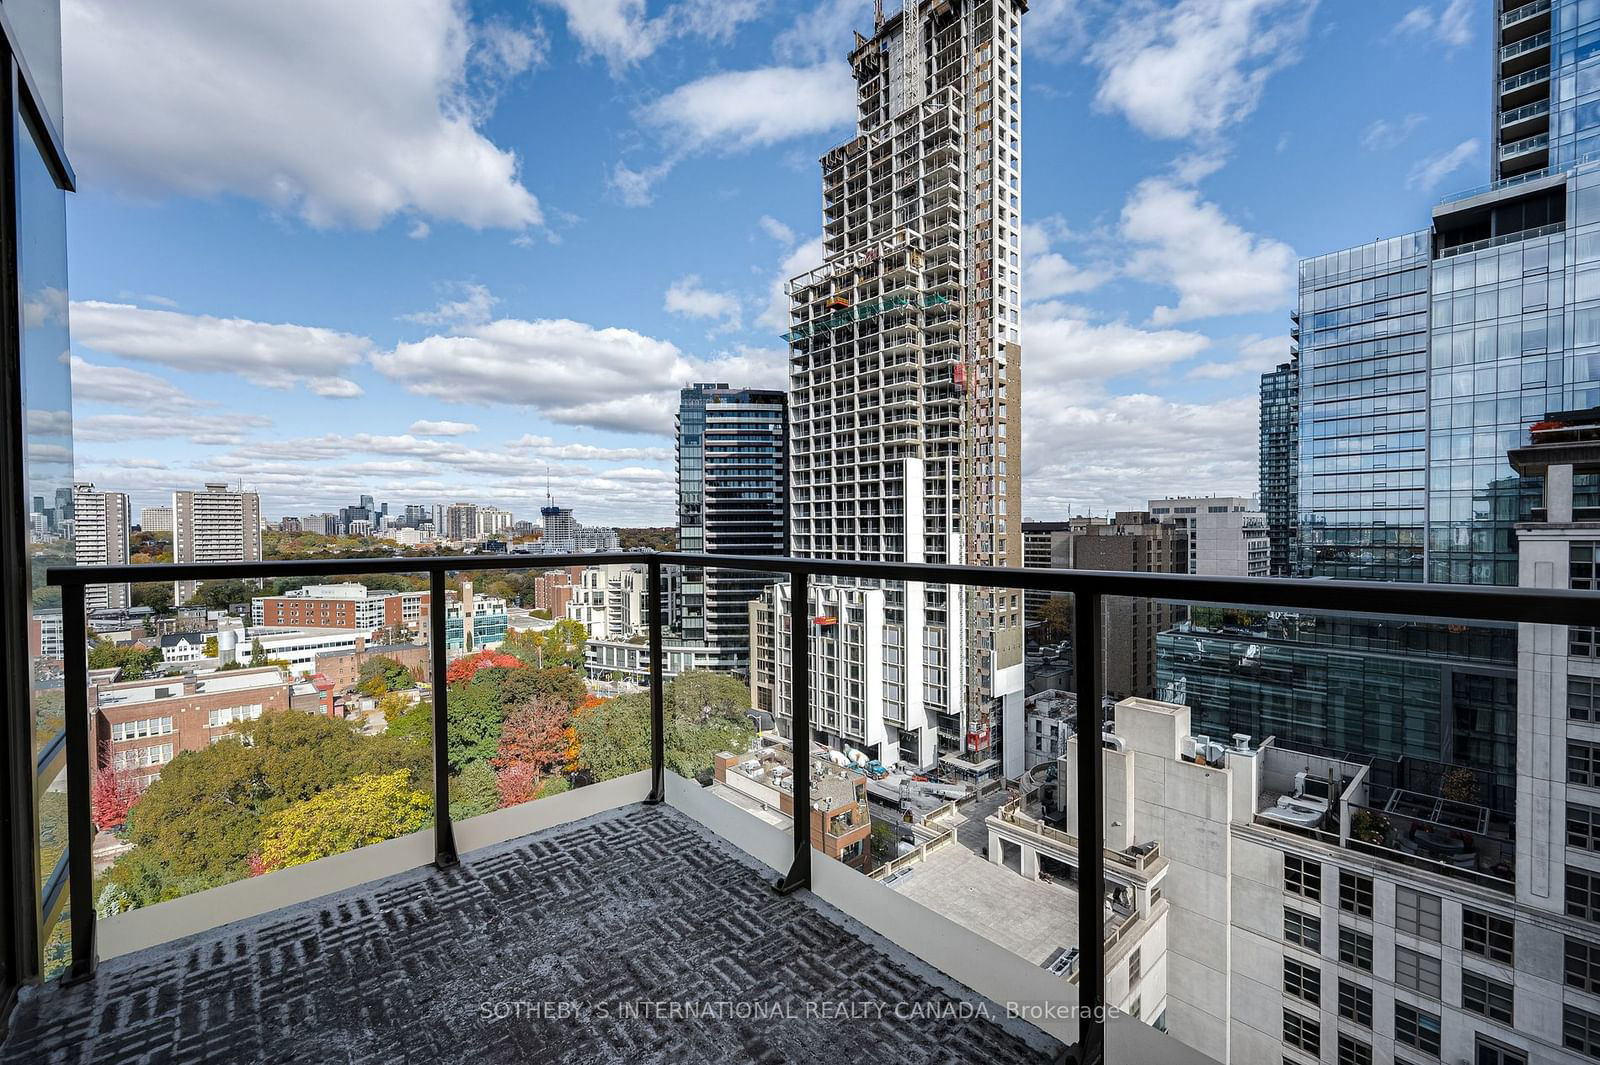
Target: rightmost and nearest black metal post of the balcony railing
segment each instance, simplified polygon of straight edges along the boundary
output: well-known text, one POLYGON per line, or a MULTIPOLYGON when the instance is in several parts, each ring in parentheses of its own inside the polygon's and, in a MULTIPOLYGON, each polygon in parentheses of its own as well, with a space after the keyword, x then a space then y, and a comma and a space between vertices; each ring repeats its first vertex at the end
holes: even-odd
POLYGON ((1072 593, 1072 672, 1078 694, 1078 1054, 1106 1060, 1106 787, 1101 595, 1072 593))

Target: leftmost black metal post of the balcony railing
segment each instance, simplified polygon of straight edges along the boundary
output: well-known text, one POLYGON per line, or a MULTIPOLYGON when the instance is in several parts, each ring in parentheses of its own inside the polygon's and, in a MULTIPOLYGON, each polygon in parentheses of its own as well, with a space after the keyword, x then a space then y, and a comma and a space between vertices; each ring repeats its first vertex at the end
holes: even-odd
POLYGON ((61 588, 62 688, 67 731, 67 905, 72 916, 72 966, 67 980, 94 975, 94 745, 90 736, 90 652, 83 585, 61 588))

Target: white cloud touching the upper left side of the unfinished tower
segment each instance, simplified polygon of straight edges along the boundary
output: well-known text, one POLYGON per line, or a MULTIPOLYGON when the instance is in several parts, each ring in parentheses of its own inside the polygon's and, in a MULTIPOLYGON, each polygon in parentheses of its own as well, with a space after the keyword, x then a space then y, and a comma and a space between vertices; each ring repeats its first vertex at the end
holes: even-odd
POLYGON ((654 185, 698 152, 739 152, 848 126, 856 83, 845 62, 726 70, 680 85, 640 110, 667 147, 642 168, 618 163, 611 187, 627 206, 651 201, 654 185))

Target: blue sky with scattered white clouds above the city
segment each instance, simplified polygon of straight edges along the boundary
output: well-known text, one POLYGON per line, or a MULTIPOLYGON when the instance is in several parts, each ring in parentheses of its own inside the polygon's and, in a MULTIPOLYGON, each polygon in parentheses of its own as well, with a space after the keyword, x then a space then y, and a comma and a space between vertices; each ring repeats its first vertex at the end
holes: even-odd
MULTIPOLYGON (((893 11, 898 0, 888 0, 893 11)), ((1027 518, 1256 491, 1294 261, 1488 181, 1488 0, 1032 0, 1027 518)), ((62 0, 78 480, 675 525, 870 0, 62 0)))

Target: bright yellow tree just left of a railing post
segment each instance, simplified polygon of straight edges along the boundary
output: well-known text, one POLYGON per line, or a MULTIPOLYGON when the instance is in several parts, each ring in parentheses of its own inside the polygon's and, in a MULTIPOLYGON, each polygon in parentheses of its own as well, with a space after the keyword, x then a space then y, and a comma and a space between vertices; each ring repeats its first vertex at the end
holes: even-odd
POLYGON ((410 769, 363 774, 267 817, 261 867, 286 868, 382 843, 427 827, 434 800, 411 785, 410 769))

